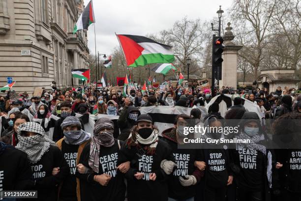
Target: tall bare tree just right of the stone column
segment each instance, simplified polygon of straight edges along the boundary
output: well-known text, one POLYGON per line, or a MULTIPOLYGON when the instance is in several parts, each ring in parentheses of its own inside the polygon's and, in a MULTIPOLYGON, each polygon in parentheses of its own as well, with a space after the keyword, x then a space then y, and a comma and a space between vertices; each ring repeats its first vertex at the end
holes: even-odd
POLYGON ((234 0, 231 20, 237 29, 237 39, 243 48, 239 55, 253 67, 254 78, 263 59, 263 50, 271 36, 271 18, 276 0, 234 0))

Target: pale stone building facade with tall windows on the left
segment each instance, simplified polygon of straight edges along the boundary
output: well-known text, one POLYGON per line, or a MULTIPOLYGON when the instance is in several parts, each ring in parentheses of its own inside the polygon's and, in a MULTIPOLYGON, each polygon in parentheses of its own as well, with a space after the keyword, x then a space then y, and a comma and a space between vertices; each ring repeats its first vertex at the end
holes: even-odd
POLYGON ((83 9, 83 0, 0 0, 0 86, 12 77, 16 92, 70 87, 71 69, 89 67, 87 31, 72 33, 83 9))

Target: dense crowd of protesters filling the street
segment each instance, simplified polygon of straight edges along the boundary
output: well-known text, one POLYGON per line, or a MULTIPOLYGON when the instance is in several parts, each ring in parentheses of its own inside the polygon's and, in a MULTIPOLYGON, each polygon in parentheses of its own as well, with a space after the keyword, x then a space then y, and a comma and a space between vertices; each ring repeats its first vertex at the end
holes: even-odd
POLYGON ((301 201, 301 146, 273 150, 264 143, 277 136, 301 145, 296 91, 178 86, 131 89, 123 96, 122 88, 85 86, 44 90, 40 96, 24 92, 17 100, 8 92, 0 96, 0 192, 35 190, 33 200, 40 201, 301 201), (217 103, 204 115, 198 108, 219 94, 233 95, 226 115, 217 103), (261 116, 248 111, 245 101, 256 104, 261 116), (193 109, 159 134, 151 115, 139 110, 153 105, 193 109), (78 115, 101 116, 93 133, 85 131, 78 115), (112 115, 119 116, 116 123, 112 115), (58 119, 48 138, 43 122, 52 116, 58 119), (229 150, 179 148, 178 128, 187 121, 223 127, 223 119, 241 120, 235 137, 251 143, 229 150), (272 136, 262 119, 274 120, 272 136), (290 120, 299 125, 288 125, 290 120), (245 166, 250 160, 253 166, 245 166))

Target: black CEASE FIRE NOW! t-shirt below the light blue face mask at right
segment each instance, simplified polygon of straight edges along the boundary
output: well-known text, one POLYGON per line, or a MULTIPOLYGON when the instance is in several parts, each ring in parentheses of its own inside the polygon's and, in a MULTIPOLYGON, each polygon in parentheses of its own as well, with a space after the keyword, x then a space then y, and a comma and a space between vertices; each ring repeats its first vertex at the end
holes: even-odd
POLYGON ((256 149, 237 150, 241 171, 239 186, 251 191, 262 191, 265 184, 265 155, 256 149))

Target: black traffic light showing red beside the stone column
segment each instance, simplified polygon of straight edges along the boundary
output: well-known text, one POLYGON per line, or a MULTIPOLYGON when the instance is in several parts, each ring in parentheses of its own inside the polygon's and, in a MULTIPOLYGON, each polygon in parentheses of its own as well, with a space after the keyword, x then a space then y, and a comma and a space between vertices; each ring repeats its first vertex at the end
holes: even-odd
POLYGON ((217 80, 221 80, 223 42, 224 39, 220 36, 213 36, 212 38, 212 70, 214 70, 214 77, 217 80))

